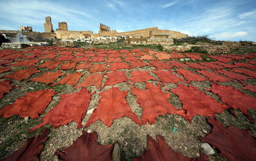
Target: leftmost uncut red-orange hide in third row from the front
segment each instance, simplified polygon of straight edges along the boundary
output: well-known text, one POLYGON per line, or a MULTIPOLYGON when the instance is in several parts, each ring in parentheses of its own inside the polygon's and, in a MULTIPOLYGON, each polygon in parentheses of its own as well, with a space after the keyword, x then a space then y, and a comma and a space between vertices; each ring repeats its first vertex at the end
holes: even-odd
POLYGON ((28 69, 23 69, 23 70, 17 70, 11 75, 6 75, 4 78, 12 78, 16 80, 23 80, 27 79, 30 77, 32 74, 40 72, 40 70, 37 70, 36 68, 28 68, 28 69))

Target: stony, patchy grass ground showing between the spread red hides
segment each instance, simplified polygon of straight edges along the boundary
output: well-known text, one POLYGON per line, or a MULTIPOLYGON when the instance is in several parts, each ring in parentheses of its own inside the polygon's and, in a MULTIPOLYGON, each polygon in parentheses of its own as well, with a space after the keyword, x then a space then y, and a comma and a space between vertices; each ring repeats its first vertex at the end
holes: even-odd
MULTIPOLYGON (((255 45, 254 45, 255 46, 255 45)), ((94 47, 94 46, 93 46, 94 47)), ((113 48, 111 45, 105 45, 105 46, 97 46, 98 48, 113 48)), ((132 49, 135 47, 130 47, 129 49, 132 49)), ((138 47, 137 47, 138 48, 138 47)), ((143 47, 144 48, 144 47, 143 47)), ((145 48, 150 48, 150 46, 146 46, 145 48)), ((232 51, 230 54, 246 54, 248 52, 256 53, 256 47, 249 47, 250 49, 244 49, 241 47, 240 49, 237 49, 236 51, 232 51)), ((124 49, 124 47, 120 48, 119 50, 124 49)), ((161 48, 154 46, 152 47, 152 50, 159 51, 161 48)), ((31 55, 31 54, 27 54, 31 55)), ((217 55, 217 54, 214 54, 217 55)), ((139 57, 140 58, 140 57, 139 57)), ((155 57, 156 58, 156 57, 155 57)), ((50 59, 44 59, 44 61, 47 61, 50 59)), ((209 59, 212 61, 212 59, 209 59)), ((202 62, 209 61, 207 59, 203 59, 202 62)), ((176 61, 179 61, 179 59, 176 59, 176 61)), ((198 62, 196 61, 183 61, 183 62, 198 62)), ((215 60, 214 60, 215 61, 215 60)), ((239 60, 238 62, 243 62, 244 60, 239 60)), ((42 64, 42 61, 37 63, 42 64)), ((148 61, 144 61, 148 62, 148 61)), ((199 61, 200 62, 200 61, 199 61)), ((93 63, 93 64, 99 64, 99 63, 93 63)), ((61 66, 61 65, 60 65, 61 66)), ((59 70, 60 66, 58 68, 55 68, 51 71, 59 70)), ((108 66, 107 66, 108 67, 108 66)), ((20 69, 26 69, 27 67, 11 67, 11 71, 0 73, 0 81, 5 80, 1 78, 2 76, 9 75, 13 73, 13 71, 20 70, 20 69)), ((140 158, 141 154, 147 147, 147 135, 150 135, 154 139, 156 139, 156 135, 160 134, 163 135, 163 137, 166 139, 167 144, 176 152, 181 153, 184 156, 197 158, 200 153, 200 146, 201 142, 198 139, 198 137, 206 137, 207 134, 211 132, 211 125, 207 122, 207 117, 202 116, 195 116, 192 120, 192 123, 190 124, 189 121, 185 121, 183 117, 176 115, 176 114, 166 114, 164 116, 159 116, 156 119, 156 122, 152 125, 137 125, 134 121, 127 117, 123 117, 121 119, 115 119, 113 121, 113 124, 111 127, 107 127, 105 124, 101 122, 101 120, 97 120, 95 123, 90 125, 89 127, 85 128, 84 125, 89 120, 89 117, 94 109, 97 108, 97 104, 99 102, 100 95, 99 93, 105 92, 106 90, 110 89, 112 86, 106 86, 103 88, 102 91, 100 91, 96 86, 90 86, 87 87, 87 90, 89 90, 91 93, 96 92, 92 95, 92 100, 90 100, 89 107, 87 109, 86 117, 82 120, 83 127, 77 129, 77 123, 71 122, 68 125, 60 126, 56 129, 54 129, 51 125, 45 125, 42 128, 39 128, 37 131, 34 132, 28 132, 29 129, 33 128, 35 125, 40 123, 40 119, 45 116, 47 112, 49 112, 51 109, 55 107, 56 104, 60 101, 60 94, 65 93, 73 93, 76 91, 79 91, 79 89, 74 89, 71 85, 56 85, 56 86, 49 86, 45 83, 38 83, 38 82, 32 82, 29 81, 31 78, 35 78, 39 75, 42 75, 42 73, 45 73, 47 71, 50 71, 47 68, 38 68, 41 72, 33 74, 28 79, 18 81, 18 80, 12 80, 11 85, 20 86, 18 88, 12 89, 9 93, 4 94, 4 97, 0 100, 0 109, 2 107, 5 107, 6 105, 12 104, 17 98, 24 96, 25 92, 33 92, 38 91, 42 89, 50 89, 52 88, 54 91, 59 91, 59 93, 55 94, 53 96, 52 102, 47 106, 45 112, 40 115, 39 119, 31 119, 29 118, 27 121, 26 119, 20 118, 18 116, 13 116, 10 118, 0 118, 0 159, 4 159, 7 156, 11 155, 14 151, 18 150, 24 142, 36 134, 40 134, 42 132, 43 127, 47 127, 50 129, 49 133, 49 139, 45 142, 44 148, 42 152, 40 153, 40 160, 58 160, 57 156, 54 154, 56 152, 56 149, 61 150, 61 147, 68 147, 72 145, 73 141, 75 141, 78 137, 82 135, 82 131, 92 132, 96 131, 98 134, 98 140, 100 145, 107 145, 107 144, 114 144, 117 142, 120 145, 121 148, 121 158, 125 160, 130 160, 131 158, 140 158), (173 127, 177 127, 180 133, 174 133, 173 127)), ((193 68, 184 68, 189 70, 195 70, 193 68)), ((161 81, 159 81, 159 78, 151 72, 151 70, 155 70, 155 67, 151 66, 144 66, 141 68, 134 68, 134 69, 121 69, 117 71, 126 71, 126 76, 131 77, 130 71, 135 70, 142 70, 142 71, 150 71, 150 75, 156 77, 157 80, 149 80, 147 82, 152 83, 154 85, 160 84, 161 81)), ((177 70, 176 67, 171 68, 174 74, 177 70)), ((76 72, 74 69, 71 70, 61 70, 63 73, 74 73, 76 72)), ((80 80, 79 83, 82 82, 86 76, 88 76, 90 73, 86 69, 77 70, 82 73, 85 73, 80 80)), ((108 73, 110 71, 103 71, 99 73, 108 73)), ((176 74, 177 75, 177 74, 176 74)), ((181 75, 178 75, 182 78, 181 75)), ((59 77, 55 82, 58 80, 61 80, 64 76, 59 77)), ((106 76, 103 77, 102 85, 106 81, 106 76)), ((79 84, 78 83, 78 84, 79 84)), ((132 81, 129 81, 129 83, 132 84, 132 81)), ((180 82, 181 83, 181 82, 180 82)), ((256 85, 256 79, 247 79, 245 82, 250 85, 256 85)), ((205 92, 208 94, 208 96, 213 97, 218 102, 223 103, 221 99, 214 93, 209 91, 204 91, 205 89, 210 89, 211 84, 213 82, 205 80, 203 82, 193 81, 191 86, 196 86, 201 92, 205 92)), ((235 89, 240 90, 241 92, 256 98, 256 92, 251 92, 249 90, 241 89, 244 87, 241 83, 236 82, 224 82, 219 83, 221 85, 229 85, 233 86, 235 89)), ((130 90, 131 87, 137 87, 139 89, 146 89, 145 82, 137 82, 135 85, 128 85, 125 82, 115 84, 114 87, 119 87, 121 91, 127 91, 130 90)), ((178 96, 170 91, 165 91, 165 89, 175 89, 177 87, 174 83, 166 83, 163 87, 161 87, 161 90, 163 92, 167 92, 170 94, 169 102, 173 104, 176 108, 181 109, 182 103, 178 96)), ((139 119, 141 119, 142 116, 142 108, 140 107, 140 104, 137 104, 137 97, 132 94, 131 90, 128 92, 128 95, 126 97, 126 101, 132 111, 139 116, 139 119)), ((247 116, 245 116, 240 110, 235 111, 237 114, 237 117, 234 116, 234 112, 232 109, 225 110, 221 114, 215 114, 216 118, 221 121, 222 124, 225 126, 235 126, 238 128, 248 129, 250 128, 252 131, 252 135, 256 137, 256 125, 255 123, 250 123, 250 120, 247 116)), ((256 110, 255 109, 249 109, 249 114, 256 120, 256 110)), ((210 155, 210 160, 225 160, 225 158, 221 158, 217 151, 215 149, 215 154, 210 155)))

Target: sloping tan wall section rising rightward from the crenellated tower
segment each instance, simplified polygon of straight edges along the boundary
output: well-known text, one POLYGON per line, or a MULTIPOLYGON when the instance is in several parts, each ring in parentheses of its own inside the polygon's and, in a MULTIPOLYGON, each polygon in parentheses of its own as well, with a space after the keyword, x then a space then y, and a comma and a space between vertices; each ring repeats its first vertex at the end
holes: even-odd
POLYGON ((118 33, 116 36, 132 36, 132 37, 149 37, 150 30, 157 30, 158 27, 146 28, 141 30, 128 31, 123 33, 118 33))

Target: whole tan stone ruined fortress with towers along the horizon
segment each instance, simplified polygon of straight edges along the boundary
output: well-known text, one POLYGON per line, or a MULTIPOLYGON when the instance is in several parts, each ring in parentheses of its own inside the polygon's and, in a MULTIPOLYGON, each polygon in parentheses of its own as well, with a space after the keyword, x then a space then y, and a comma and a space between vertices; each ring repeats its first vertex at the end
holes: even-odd
MULTIPOLYGON (((59 28, 53 31, 52 20, 50 17, 45 18, 45 23, 43 24, 45 28, 44 33, 39 32, 28 32, 28 31, 15 31, 15 33, 21 32, 23 35, 28 35, 30 37, 40 37, 40 38, 59 38, 59 39, 78 39, 78 38, 96 38, 96 37, 121 37, 129 36, 134 38, 185 38, 188 37, 187 34, 183 34, 179 31, 171 31, 158 29, 158 27, 151 27, 141 30, 127 31, 118 33, 116 30, 110 30, 109 26, 100 23, 99 32, 93 33, 93 31, 69 31, 67 29, 67 22, 59 22, 59 28)), ((1 33, 6 33, 7 30, 0 30, 1 33)), ((12 33, 8 31, 7 33, 12 33)))

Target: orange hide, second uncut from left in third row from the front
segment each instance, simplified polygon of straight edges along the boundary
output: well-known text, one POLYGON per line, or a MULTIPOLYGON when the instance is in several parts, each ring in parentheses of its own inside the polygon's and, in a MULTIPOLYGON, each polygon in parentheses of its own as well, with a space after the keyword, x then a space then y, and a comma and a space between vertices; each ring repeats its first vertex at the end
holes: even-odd
POLYGON ((50 83, 53 83, 56 79, 58 79, 60 76, 63 76, 63 75, 64 74, 58 70, 56 72, 45 72, 45 73, 43 73, 43 75, 35 77, 30 80, 34 81, 34 82, 50 84, 50 83))

